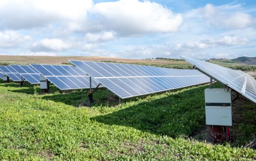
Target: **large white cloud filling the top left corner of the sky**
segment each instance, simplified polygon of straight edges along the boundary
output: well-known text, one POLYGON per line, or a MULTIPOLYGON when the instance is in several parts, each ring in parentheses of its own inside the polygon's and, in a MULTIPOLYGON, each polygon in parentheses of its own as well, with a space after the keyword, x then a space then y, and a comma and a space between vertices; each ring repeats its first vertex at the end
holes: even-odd
POLYGON ((0 28, 34 28, 86 19, 92 0, 0 0, 0 28))

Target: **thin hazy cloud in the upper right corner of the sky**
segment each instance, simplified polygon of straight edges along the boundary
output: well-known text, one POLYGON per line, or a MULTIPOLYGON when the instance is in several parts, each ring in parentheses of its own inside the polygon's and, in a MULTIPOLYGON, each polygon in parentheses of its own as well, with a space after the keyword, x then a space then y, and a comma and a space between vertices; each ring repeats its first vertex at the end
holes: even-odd
POLYGON ((216 7, 212 4, 207 4, 204 7, 198 8, 194 16, 199 16, 205 19, 211 26, 225 28, 247 28, 254 24, 255 18, 250 14, 228 10, 225 7, 216 7))

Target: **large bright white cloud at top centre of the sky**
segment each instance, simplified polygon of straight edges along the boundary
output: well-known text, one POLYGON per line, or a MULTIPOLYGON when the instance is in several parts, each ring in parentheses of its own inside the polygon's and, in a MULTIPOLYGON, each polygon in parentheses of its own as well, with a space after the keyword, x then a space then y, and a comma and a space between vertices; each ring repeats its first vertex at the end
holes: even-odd
POLYGON ((183 22, 181 14, 150 1, 102 2, 91 12, 98 15, 100 26, 122 34, 176 32, 183 22))

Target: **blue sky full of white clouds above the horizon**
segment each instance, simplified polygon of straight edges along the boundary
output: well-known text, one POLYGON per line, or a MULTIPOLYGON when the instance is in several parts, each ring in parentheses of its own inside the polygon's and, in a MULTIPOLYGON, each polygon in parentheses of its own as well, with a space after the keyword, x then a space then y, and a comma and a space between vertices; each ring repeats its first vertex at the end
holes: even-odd
POLYGON ((256 57, 256 1, 0 0, 0 54, 256 57))

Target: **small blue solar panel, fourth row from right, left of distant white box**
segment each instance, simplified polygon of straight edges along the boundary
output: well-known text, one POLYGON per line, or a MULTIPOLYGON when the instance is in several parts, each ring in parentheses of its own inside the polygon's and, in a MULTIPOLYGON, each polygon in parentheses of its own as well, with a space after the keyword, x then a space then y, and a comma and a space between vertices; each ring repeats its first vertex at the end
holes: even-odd
POLYGON ((29 65, 10 65, 15 71, 17 71, 21 76, 28 80, 31 84, 40 83, 40 74, 35 71, 32 66, 29 65))

